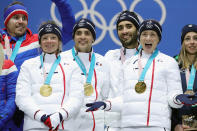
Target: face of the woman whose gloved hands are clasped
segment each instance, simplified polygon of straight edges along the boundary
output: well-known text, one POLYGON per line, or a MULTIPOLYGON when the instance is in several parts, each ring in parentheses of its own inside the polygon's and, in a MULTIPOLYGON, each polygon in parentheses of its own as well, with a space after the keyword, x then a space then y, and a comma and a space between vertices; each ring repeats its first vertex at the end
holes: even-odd
POLYGON ((53 33, 44 34, 41 37, 41 48, 43 52, 48 54, 57 53, 60 43, 57 35, 53 33))

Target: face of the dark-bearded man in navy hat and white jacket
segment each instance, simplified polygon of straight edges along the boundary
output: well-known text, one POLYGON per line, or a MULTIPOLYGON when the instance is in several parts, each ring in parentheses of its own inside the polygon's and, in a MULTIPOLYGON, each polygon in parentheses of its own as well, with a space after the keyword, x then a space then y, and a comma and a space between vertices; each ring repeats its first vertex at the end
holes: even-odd
POLYGON ((135 44, 137 43, 137 29, 135 25, 130 21, 121 21, 118 24, 117 30, 122 46, 135 48, 135 44))

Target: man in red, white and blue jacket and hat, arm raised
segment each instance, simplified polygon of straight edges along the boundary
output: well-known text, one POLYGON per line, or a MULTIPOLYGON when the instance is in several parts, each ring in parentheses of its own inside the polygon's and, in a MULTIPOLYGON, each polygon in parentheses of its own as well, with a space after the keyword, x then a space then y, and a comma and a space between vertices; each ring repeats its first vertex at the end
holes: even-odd
MULTIPOLYGON (((72 27, 75 23, 72 14, 72 8, 67 0, 51 0, 58 8, 62 20, 63 43, 67 43, 72 39, 72 27)), ((50 2, 50 0, 49 0, 50 2)), ((2 38, 0 43, 3 45, 5 59, 11 59, 18 71, 21 64, 30 58, 40 54, 38 35, 33 34, 27 27, 29 21, 28 9, 22 2, 14 1, 4 9, 4 25, 5 28, 0 29, 2 38)), ((38 19, 38 18, 37 18, 38 19)), ((15 131, 22 131, 23 112, 18 108, 13 116, 14 122, 18 128, 15 131)))

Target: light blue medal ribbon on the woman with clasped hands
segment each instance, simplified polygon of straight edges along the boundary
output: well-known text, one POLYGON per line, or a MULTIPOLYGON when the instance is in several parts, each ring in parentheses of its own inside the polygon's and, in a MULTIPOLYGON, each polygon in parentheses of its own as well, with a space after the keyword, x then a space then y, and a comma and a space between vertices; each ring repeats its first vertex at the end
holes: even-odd
MULTIPOLYGON (((41 66, 43 67, 44 64, 43 64, 43 56, 42 56, 42 55, 40 55, 40 61, 41 61, 41 66)), ((61 61, 61 57, 60 57, 60 55, 59 55, 59 56, 57 57, 57 59, 55 60, 55 62, 53 63, 53 65, 52 65, 52 67, 51 67, 51 69, 50 69, 50 71, 49 71, 49 74, 47 75, 47 78, 46 78, 44 84, 50 85, 52 75, 53 75, 53 73, 55 72, 55 69, 56 69, 57 66, 59 65, 60 61, 61 61)))

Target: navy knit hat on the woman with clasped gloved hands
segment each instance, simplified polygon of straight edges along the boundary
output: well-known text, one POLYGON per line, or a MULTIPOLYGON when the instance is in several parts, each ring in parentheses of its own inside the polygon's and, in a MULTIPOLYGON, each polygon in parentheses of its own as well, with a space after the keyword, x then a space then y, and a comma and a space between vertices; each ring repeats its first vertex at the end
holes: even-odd
POLYGON ((47 23, 47 24, 44 24, 42 25, 40 28, 39 28, 39 31, 38 31, 38 39, 39 39, 39 42, 41 40, 41 37, 44 35, 44 34, 48 34, 48 33, 53 33, 53 34, 56 34, 57 37, 62 40, 62 35, 61 35, 61 30, 60 28, 55 25, 55 24, 52 24, 52 23, 47 23))

